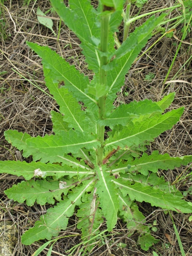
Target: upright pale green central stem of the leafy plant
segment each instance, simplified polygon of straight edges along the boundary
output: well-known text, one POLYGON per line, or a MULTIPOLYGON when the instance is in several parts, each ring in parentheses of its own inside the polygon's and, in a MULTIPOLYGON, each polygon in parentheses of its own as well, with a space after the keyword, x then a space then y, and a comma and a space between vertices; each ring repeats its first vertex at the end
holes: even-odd
MULTIPOLYGON (((108 38, 109 38, 109 18, 110 14, 104 14, 101 16, 101 27, 100 27, 100 51, 103 53, 100 57, 100 85, 106 87, 106 71, 102 68, 108 62, 108 38)), ((105 119, 105 102, 106 95, 102 96, 98 100, 99 106, 99 119, 105 119)), ((97 125, 97 138, 100 141, 101 146, 97 148, 97 164, 102 163, 103 159, 103 147, 104 147, 104 125, 97 125)))

